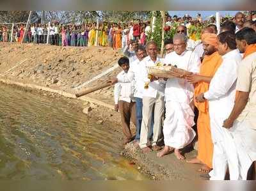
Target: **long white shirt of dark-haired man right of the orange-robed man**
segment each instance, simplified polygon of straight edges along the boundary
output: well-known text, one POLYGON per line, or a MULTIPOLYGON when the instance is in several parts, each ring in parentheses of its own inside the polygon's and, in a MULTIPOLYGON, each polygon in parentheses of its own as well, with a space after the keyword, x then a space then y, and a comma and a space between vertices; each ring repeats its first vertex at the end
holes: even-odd
MULTIPOLYGON (((209 100, 209 112, 218 119, 216 124, 223 123, 228 118, 234 106, 236 96, 237 68, 241 62, 239 51, 232 50, 222 56, 223 62, 211 80, 209 90, 204 93, 205 99, 209 100), (221 120, 221 121, 219 121, 221 120)), ((212 141, 223 140, 221 125, 211 127, 212 141)))

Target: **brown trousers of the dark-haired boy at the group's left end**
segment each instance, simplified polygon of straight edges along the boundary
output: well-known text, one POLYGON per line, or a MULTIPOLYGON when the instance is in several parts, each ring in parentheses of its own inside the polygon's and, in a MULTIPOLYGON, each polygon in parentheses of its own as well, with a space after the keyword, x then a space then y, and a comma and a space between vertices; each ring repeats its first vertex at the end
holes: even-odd
POLYGON ((136 107, 135 102, 124 102, 120 100, 118 102, 119 111, 121 114, 122 128, 125 135, 125 141, 132 140, 132 133, 130 128, 130 122, 136 125, 136 107))

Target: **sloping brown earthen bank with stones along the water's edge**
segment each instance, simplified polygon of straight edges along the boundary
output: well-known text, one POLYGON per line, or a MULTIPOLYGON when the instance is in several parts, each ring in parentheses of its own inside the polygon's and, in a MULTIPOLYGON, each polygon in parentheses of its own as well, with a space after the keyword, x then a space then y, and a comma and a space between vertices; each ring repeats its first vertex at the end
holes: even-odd
MULTIPOLYGON (((111 124, 113 131, 120 134, 117 141, 122 141, 120 116, 118 112, 113 111, 113 87, 83 96, 81 100, 74 97, 77 91, 116 76, 120 72, 119 68, 90 82, 84 88, 76 89, 99 73, 115 66, 120 56, 120 52, 115 52, 109 47, 74 48, 0 43, 0 80, 16 84, 16 88, 22 86, 25 91, 35 91, 56 100, 63 100, 77 111, 96 118, 97 123, 111 124)), ((135 132, 134 126, 132 132, 135 132)), ((141 172, 149 174, 152 180, 205 179, 196 172, 198 165, 179 161, 173 154, 157 158, 156 152, 144 155, 140 149, 127 144, 121 155, 130 158, 131 165, 136 165, 141 172)), ((195 156, 195 151, 186 153, 187 158, 195 156)))

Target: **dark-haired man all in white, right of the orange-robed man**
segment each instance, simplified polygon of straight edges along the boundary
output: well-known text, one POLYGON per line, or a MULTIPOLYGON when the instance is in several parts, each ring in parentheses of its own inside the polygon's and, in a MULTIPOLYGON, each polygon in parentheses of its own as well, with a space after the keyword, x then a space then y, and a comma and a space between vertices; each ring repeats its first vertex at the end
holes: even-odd
POLYGON ((230 180, 236 180, 238 167, 236 148, 230 132, 222 127, 223 120, 230 114, 236 95, 237 67, 241 55, 236 49, 235 34, 226 31, 218 35, 218 52, 223 62, 211 80, 209 91, 196 97, 198 102, 209 100, 209 114, 213 148, 210 180, 225 180, 227 167, 230 180))

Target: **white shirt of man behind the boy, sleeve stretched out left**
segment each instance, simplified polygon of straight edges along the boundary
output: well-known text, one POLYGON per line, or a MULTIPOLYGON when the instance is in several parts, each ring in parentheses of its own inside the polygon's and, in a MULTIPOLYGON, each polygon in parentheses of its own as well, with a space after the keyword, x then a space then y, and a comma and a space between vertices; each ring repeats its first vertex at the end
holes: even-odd
POLYGON ((141 80, 141 62, 139 59, 136 59, 131 63, 127 75, 120 75, 117 77, 117 79, 118 82, 122 83, 132 82, 132 80, 134 80, 134 97, 141 99, 143 98, 143 89, 145 82, 141 80))

